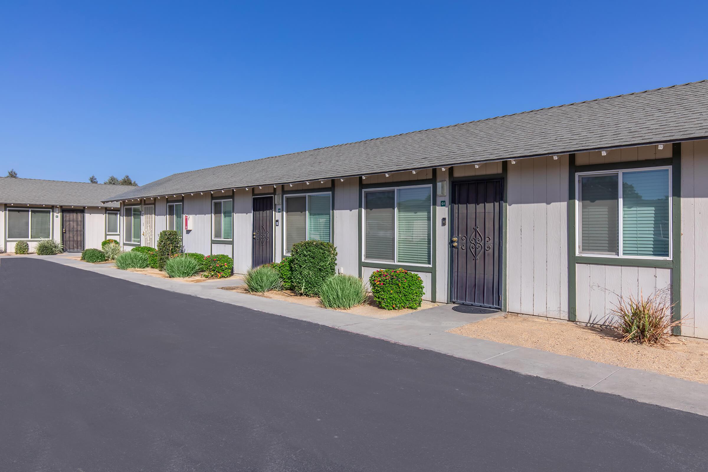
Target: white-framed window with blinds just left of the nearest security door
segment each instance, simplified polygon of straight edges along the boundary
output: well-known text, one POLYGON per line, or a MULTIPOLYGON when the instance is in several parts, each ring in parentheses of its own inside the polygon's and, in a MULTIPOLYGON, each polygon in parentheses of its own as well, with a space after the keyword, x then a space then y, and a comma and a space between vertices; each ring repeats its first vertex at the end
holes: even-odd
POLYGON ((364 192, 364 259, 430 265, 430 185, 364 192))

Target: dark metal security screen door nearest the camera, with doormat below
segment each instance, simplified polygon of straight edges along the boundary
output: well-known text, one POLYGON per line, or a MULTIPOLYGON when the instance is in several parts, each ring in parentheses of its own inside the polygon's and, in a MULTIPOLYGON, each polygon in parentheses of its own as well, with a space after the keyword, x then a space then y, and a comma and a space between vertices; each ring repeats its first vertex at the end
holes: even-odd
POLYGON ((502 181, 452 185, 452 301, 501 308, 502 181))

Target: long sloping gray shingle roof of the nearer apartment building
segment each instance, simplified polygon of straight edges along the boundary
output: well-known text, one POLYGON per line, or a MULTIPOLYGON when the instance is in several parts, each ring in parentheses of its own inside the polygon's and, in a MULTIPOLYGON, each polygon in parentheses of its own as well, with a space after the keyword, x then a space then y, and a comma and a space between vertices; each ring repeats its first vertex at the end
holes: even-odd
POLYGON ((708 81, 169 175, 119 198, 275 185, 708 137, 708 81))

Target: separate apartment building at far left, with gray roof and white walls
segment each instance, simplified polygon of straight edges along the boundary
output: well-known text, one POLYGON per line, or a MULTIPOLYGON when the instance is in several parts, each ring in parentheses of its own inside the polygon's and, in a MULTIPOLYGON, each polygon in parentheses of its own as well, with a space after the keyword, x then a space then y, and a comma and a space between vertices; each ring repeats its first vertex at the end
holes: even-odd
POLYGON ((120 241, 120 205, 102 202, 125 192, 120 185, 31 178, 0 178, 0 247, 13 252, 27 241, 30 252, 42 239, 64 244, 64 251, 101 248, 120 241))

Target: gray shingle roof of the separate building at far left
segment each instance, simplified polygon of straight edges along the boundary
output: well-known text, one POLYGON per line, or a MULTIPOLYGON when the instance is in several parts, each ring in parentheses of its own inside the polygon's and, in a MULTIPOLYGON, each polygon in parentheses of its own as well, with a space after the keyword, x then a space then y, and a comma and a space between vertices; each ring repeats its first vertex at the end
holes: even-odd
POLYGON ((33 178, 0 178, 0 203, 115 207, 118 205, 103 204, 101 202, 123 192, 125 192, 125 186, 123 185, 33 178))

